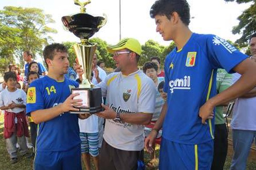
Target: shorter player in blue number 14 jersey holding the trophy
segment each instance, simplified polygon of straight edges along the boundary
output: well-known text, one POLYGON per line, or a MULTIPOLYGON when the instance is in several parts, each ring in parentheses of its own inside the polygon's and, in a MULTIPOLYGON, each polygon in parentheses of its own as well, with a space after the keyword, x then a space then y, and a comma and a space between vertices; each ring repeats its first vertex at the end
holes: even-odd
MULTIPOLYGON (((58 43, 48 45, 44 60, 49 74, 32 82, 27 92, 27 115, 39 124, 35 170, 81 170, 78 118, 87 116, 69 113, 78 110, 73 106, 81 105, 81 100, 70 93, 79 84, 64 79, 69 68, 67 48, 58 43)), ((79 69, 80 75, 82 72, 79 69)))

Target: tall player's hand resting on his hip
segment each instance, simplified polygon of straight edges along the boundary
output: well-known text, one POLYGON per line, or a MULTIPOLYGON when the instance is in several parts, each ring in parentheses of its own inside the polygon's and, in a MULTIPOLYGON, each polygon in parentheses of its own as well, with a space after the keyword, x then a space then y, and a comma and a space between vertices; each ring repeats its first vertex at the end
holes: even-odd
MULTIPOLYGON (((209 101, 209 100, 208 100, 209 101)), ((213 109, 214 106, 211 105, 210 102, 204 103, 204 105, 201 106, 199 110, 199 116, 202 118, 202 123, 207 124, 206 120, 207 119, 213 119, 213 109)))

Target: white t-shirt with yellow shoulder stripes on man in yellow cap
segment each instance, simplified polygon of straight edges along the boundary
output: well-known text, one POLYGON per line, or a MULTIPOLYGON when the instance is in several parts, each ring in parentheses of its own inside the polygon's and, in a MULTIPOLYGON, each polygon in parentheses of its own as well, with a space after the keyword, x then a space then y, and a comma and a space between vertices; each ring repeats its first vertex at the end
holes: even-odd
MULTIPOLYGON (((122 72, 108 75, 98 84, 108 106, 119 113, 154 113, 156 89, 152 79, 138 70, 128 76, 122 72)), ((120 150, 139 151, 144 146, 144 125, 106 119, 105 141, 120 150)))

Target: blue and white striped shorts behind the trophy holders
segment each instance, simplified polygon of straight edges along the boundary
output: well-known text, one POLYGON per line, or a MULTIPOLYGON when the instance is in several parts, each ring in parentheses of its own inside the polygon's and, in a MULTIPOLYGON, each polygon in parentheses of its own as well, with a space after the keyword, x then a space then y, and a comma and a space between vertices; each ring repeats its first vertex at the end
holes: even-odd
POLYGON ((99 133, 80 132, 81 153, 90 153, 91 156, 99 155, 99 133))

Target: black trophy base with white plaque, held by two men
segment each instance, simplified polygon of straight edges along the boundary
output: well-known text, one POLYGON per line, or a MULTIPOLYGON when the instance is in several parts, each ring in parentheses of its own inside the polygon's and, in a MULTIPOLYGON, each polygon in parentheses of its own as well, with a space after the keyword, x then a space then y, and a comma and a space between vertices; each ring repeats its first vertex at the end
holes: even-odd
MULTIPOLYGON (((70 113, 81 114, 81 113, 99 113, 103 111, 102 104, 102 92, 101 88, 73 88, 71 94, 80 93, 79 99, 83 99, 86 103, 83 107, 78 108, 79 111, 70 111, 70 113), (85 92, 85 93, 84 93, 85 92), (82 94, 82 95, 81 95, 82 94)), ((78 98, 77 98, 78 99, 78 98)))

